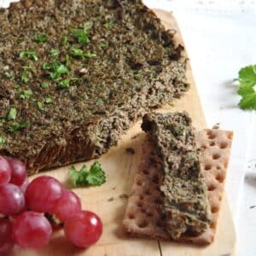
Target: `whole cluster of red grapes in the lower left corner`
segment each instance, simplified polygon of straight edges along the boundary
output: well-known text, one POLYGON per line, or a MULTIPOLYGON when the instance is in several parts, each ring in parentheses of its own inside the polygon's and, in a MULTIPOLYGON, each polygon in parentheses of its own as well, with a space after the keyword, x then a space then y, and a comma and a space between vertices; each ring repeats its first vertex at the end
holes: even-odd
POLYGON ((64 223, 67 240, 78 247, 89 247, 102 235, 101 219, 94 212, 82 211, 79 197, 58 180, 41 176, 29 183, 20 160, 0 156, 0 256, 15 243, 44 247, 53 232, 44 213, 64 223))

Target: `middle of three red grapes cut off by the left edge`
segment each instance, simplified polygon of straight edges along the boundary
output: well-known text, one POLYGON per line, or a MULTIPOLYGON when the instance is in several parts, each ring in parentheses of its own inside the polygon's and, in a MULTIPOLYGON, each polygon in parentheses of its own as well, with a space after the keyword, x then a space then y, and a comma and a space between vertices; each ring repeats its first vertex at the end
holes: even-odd
POLYGON ((0 187, 0 213, 11 215, 25 208, 25 198, 21 189, 11 183, 0 187))

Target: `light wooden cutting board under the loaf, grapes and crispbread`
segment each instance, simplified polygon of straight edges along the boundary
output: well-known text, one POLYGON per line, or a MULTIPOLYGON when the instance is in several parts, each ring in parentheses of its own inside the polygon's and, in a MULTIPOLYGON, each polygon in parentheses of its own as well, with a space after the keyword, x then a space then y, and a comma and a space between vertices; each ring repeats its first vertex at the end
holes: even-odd
MULTIPOLYGON (((181 33, 178 30, 176 20, 172 14, 162 10, 155 10, 167 28, 177 31, 177 40, 183 44, 181 33)), ((207 128, 201 102, 195 88, 191 67, 188 63, 188 79, 191 89, 181 100, 174 102, 174 107, 166 106, 159 112, 170 112, 175 110, 187 110, 194 121, 197 129, 207 128)), ((134 125, 127 134, 122 137, 117 147, 111 148, 108 154, 100 159, 103 170, 107 174, 107 183, 100 187, 88 189, 73 189, 79 195, 86 210, 96 212, 103 222, 103 235, 95 246, 87 250, 73 247, 62 231, 55 232, 49 245, 38 251, 21 250, 15 247, 12 255, 31 256, 157 256, 157 255, 207 255, 220 256, 232 255, 235 248, 235 229, 232 222, 230 208, 226 197, 222 202, 220 217, 218 220, 217 234, 212 245, 207 247, 195 247, 176 242, 157 240, 135 239, 125 236, 121 226, 124 218, 127 196, 131 190, 131 184, 140 160, 143 134, 140 122, 134 125), (138 135, 137 137, 135 137, 138 135), (134 148, 136 154, 129 154, 125 148, 134 148)), ((90 166, 93 161, 86 162, 90 166)), ((76 165, 78 168, 82 163, 76 165)), ((39 175, 42 175, 39 174, 39 175)), ((68 166, 61 167, 55 171, 44 172, 43 175, 51 175, 58 178, 67 188, 71 188, 68 179, 68 166)), ((34 176, 36 177, 36 176, 34 176)), ((34 178, 32 177, 32 178, 34 178)), ((44 191, 42 191, 44 193, 44 191)))

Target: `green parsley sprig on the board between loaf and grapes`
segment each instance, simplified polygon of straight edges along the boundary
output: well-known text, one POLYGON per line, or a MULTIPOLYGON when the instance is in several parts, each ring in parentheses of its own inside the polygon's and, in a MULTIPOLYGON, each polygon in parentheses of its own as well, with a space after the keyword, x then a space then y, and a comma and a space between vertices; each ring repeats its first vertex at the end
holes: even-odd
POLYGON ((102 166, 98 161, 95 161, 94 164, 90 166, 90 170, 87 170, 86 166, 82 166, 80 171, 77 171, 74 166, 71 166, 68 170, 73 185, 76 187, 96 186, 106 182, 105 172, 103 172, 102 166))

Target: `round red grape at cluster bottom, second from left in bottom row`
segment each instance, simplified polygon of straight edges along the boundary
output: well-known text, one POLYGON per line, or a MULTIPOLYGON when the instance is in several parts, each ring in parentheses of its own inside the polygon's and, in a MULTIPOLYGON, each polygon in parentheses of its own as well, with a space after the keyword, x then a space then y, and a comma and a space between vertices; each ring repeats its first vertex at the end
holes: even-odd
POLYGON ((52 229, 42 213, 23 212, 15 221, 13 233, 20 247, 36 249, 49 242, 52 229))

